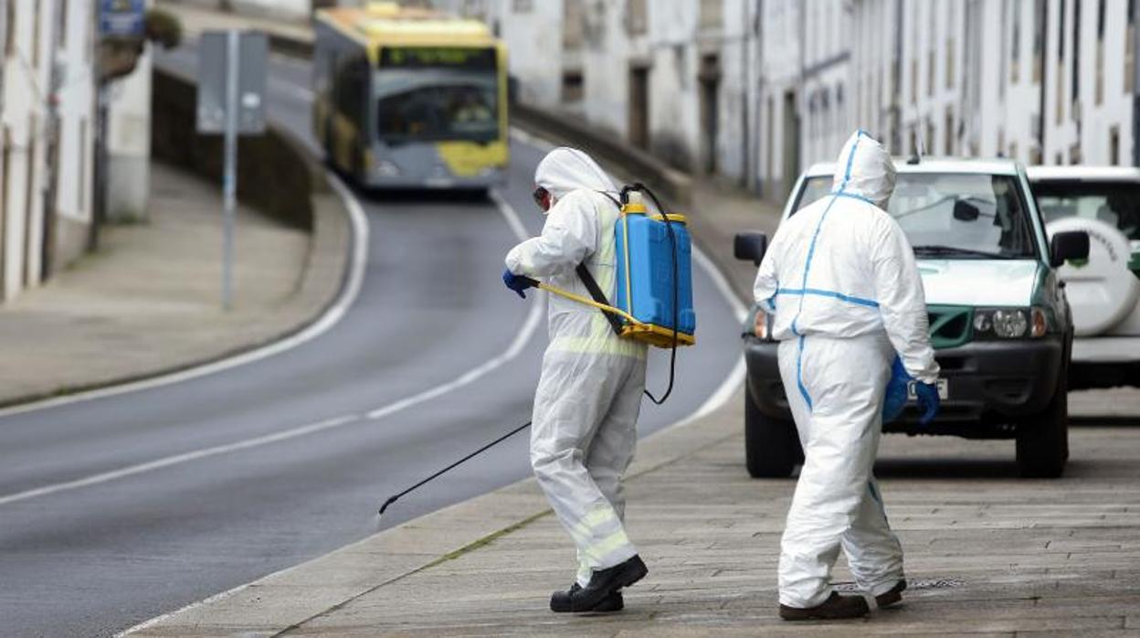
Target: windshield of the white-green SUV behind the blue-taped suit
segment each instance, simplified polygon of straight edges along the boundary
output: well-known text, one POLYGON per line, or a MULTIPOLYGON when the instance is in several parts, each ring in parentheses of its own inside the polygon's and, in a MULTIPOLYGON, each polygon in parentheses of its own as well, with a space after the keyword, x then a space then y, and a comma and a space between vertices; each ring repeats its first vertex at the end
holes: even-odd
MULTIPOLYGON (((804 183, 795 210, 831 192, 831 176, 804 183)), ((1036 242, 1017 178, 984 173, 898 173, 887 212, 919 257, 1034 259, 1036 242)))

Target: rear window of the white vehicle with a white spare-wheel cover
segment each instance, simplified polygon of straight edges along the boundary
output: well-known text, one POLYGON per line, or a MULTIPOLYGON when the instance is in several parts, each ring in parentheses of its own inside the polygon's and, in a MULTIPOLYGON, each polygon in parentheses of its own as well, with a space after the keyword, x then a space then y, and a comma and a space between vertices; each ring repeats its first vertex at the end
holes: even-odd
POLYGON ((1100 219, 1140 240, 1140 184, 1132 181, 1043 180, 1033 194, 1045 221, 1062 217, 1100 219))

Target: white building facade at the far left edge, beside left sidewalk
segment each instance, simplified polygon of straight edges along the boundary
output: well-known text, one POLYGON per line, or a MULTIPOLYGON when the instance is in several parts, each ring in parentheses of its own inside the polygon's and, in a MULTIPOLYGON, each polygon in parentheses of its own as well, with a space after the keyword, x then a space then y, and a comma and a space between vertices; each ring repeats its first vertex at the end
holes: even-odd
POLYGON ((87 247, 93 162, 93 3, 3 0, 0 300, 87 247))

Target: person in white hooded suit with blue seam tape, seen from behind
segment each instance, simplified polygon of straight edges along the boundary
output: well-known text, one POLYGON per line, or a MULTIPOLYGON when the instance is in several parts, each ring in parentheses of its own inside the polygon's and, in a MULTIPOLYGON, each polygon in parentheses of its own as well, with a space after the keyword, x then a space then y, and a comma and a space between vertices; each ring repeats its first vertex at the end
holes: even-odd
POLYGON ((880 607, 902 600, 906 588, 872 466, 896 353, 927 421, 938 407, 938 364, 914 253, 885 212, 894 184, 890 156, 857 131, 839 155, 832 193, 780 225, 756 277, 804 446, 781 541, 784 620, 869 612, 862 596, 831 588, 840 548, 880 607))

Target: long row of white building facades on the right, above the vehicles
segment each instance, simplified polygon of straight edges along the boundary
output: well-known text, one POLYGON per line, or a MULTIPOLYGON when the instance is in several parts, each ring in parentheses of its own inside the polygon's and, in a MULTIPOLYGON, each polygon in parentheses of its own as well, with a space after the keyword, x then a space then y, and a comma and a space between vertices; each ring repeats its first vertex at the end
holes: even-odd
POLYGON ((1132 163, 1130 0, 439 0, 518 96, 780 200, 856 128, 899 155, 1132 163))

